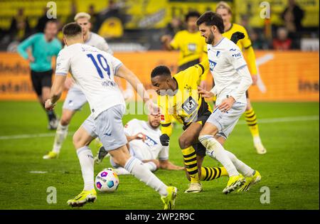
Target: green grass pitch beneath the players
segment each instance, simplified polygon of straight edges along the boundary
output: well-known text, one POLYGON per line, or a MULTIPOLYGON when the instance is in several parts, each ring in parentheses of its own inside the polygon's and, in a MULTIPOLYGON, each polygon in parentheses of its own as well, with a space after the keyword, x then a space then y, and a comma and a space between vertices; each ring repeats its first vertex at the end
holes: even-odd
MULTIPOLYGON (((60 114, 62 103, 56 112, 60 114)), ((188 181, 183 171, 156 171, 166 184, 178 188, 176 209, 319 209, 319 103, 253 104, 260 122, 262 142, 267 154, 258 155, 244 123, 239 124, 225 144, 239 159, 257 169, 262 181, 247 193, 222 193, 228 178, 203 182, 202 193, 186 194, 188 181), (270 203, 261 203, 263 192, 270 188, 270 203)), ((89 113, 88 106, 75 114, 69 130, 75 132, 89 113)), ((126 115, 129 119, 144 115, 126 115)), ((43 154, 53 145, 53 131, 36 102, 0 102, 0 209, 70 209, 66 202, 82 190, 80 165, 68 136, 59 159, 45 161, 43 154), (23 134, 48 134, 30 137, 23 134), (12 136, 21 135, 16 139, 12 136), (8 138, 8 136, 11 136, 8 138), (30 171, 46 171, 32 174, 30 171), (57 189, 57 203, 47 203, 47 188, 57 189)), ((178 148, 178 126, 171 137, 170 159, 183 165, 178 148)), ((97 149, 92 144, 95 155, 97 149)), ((206 157, 206 166, 218 163, 206 157)), ((95 174, 109 167, 108 159, 95 166, 95 174)), ((133 176, 119 176, 115 193, 98 193, 97 201, 75 209, 162 209, 158 193, 133 176)))

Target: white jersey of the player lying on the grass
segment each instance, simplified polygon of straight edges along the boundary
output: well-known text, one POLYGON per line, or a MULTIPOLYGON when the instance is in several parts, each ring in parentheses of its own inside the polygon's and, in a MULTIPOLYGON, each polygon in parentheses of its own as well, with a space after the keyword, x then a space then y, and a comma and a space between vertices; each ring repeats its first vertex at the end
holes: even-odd
POLYGON ((132 156, 138 159, 169 159, 169 146, 162 146, 160 142, 161 130, 152 128, 148 122, 139 119, 132 119, 124 126, 124 133, 133 136, 138 133, 146 136, 146 140, 134 139, 129 142, 129 149, 132 156))

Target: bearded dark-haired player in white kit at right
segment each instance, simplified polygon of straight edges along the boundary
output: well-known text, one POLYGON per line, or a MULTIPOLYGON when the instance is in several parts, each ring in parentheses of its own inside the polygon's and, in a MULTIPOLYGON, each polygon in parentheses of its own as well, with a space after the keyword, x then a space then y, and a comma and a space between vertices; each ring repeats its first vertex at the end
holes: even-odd
POLYGON ((217 96, 217 108, 201 130, 199 141, 206 147, 206 154, 217 159, 228 171, 229 181, 223 193, 247 191, 260 181, 260 173, 225 150, 223 144, 245 112, 245 91, 252 85, 252 78, 240 48, 228 38, 223 38, 221 16, 207 11, 198 18, 197 25, 201 36, 206 39, 208 63, 215 81, 215 87, 210 92, 199 92, 203 97, 217 96))

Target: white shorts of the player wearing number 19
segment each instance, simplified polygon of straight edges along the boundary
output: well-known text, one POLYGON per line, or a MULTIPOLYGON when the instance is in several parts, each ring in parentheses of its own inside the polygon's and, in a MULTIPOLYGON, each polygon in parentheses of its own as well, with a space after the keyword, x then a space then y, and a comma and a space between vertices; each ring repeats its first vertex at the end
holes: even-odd
POLYGON ((93 137, 99 137, 105 150, 110 151, 127 144, 124 134, 122 116, 125 112, 124 105, 110 107, 98 115, 96 119, 89 116, 82 127, 93 137))

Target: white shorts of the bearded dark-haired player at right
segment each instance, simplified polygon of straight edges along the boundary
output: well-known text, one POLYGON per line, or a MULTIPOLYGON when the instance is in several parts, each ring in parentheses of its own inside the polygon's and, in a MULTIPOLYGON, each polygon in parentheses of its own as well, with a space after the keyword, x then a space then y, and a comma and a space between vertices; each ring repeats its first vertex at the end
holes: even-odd
POLYGON ((218 136, 228 138, 230 133, 235 128, 241 115, 245 112, 247 104, 242 102, 235 102, 228 112, 221 112, 218 108, 215 108, 213 113, 207 119, 207 122, 218 127, 218 136))

